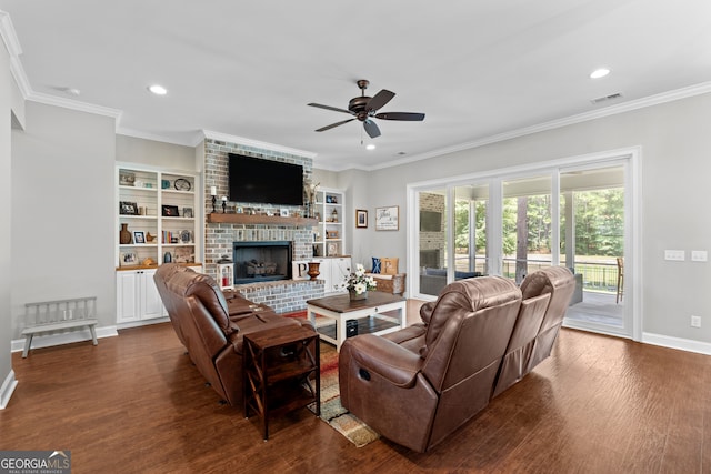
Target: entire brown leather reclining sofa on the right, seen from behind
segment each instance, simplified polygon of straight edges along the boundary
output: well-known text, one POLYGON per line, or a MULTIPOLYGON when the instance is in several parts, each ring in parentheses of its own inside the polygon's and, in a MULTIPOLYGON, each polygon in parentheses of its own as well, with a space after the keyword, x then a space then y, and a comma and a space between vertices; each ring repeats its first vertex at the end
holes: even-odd
POLYGON ((343 343, 342 405, 384 437, 429 450, 550 355, 574 286, 564 268, 521 289, 498 276, 447 285, 422 323, 343 343))

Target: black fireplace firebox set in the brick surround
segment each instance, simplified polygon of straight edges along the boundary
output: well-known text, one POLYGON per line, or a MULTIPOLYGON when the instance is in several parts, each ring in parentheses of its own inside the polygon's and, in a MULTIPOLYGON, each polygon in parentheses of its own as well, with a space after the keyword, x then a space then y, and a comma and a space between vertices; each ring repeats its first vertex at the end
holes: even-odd
POLYGON ((290 280, 291 242, 232 242, 234 284, 290 280))

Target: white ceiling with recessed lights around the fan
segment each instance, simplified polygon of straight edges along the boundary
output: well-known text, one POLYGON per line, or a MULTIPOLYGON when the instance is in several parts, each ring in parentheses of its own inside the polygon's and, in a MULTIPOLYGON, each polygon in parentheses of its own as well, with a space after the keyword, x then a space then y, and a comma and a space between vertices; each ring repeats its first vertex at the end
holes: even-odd
POLYGON ((119 133, 194 145, 207 130, 308 151, 333 170, 711 91, 709 0, 0 0, 0 10, 29 99, 117 109, 119 133), (589 78, 603 65, 610 75, 589 78), (370 95, 397 93, 381 112, 424 121, 377 120, 374 140, 358 121, 314 132, 349 115, 307 103, 347 109, 358 79, 370 95), (150 94, 152 83, 168 94, 150 94), (613 93, 622 98, 591 103, 613 93))

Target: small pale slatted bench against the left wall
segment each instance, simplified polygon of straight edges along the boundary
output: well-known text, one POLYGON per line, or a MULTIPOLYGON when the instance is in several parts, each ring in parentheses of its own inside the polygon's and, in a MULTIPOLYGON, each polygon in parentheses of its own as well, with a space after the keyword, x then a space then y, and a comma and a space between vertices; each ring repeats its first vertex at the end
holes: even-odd
POLYGON ((22 330, 22 335, 24 336, 23 359, 30 352, 32 337, 36 334, 74 327, 89 327, 93 345, 99 344, 96 330, 99 321, 93 317, 97 313, 96 296, 27 303, 24 307, 26 326, 22 330))

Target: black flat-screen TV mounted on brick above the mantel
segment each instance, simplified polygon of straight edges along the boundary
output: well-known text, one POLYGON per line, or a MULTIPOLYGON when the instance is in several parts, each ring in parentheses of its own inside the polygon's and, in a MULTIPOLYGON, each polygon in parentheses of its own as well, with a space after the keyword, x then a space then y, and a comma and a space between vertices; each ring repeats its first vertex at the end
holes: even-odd
POLYGON ((303 205, 303 167, 228 153, 231 202, 303 205))

